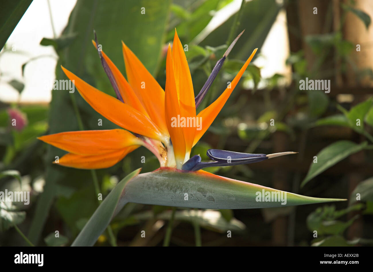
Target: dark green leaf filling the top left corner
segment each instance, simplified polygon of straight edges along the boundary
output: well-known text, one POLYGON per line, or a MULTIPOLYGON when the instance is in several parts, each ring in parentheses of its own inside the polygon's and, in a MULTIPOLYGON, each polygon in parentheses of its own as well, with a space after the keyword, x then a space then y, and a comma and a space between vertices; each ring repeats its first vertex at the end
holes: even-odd
POLYGON ((12 34, 19 20, 30 6, 32 0, 1 1, 0 9, 0 50, 12 34))

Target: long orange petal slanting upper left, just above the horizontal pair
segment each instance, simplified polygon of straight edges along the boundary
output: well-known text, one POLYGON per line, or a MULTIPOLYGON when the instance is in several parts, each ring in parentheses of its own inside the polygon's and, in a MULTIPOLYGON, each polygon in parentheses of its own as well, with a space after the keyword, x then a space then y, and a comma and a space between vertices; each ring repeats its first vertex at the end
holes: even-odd
POLYGON ((114 124, 137 134, 157 140, 164 139, 157 126, 141 112, 120 102, 113 96, 97 90, 64 67, 62 67, 62 70, 70 80, 73 80, 73 83, 85 101, 102 116, 114 124))

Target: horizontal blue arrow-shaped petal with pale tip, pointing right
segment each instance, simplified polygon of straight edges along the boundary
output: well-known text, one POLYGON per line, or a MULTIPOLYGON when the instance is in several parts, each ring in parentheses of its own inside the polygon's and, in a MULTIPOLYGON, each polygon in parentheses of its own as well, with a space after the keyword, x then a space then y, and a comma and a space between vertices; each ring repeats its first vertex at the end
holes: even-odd
POLYGON ((239 164, 248 164, 248 163, 256 163, 258 161, 263 161, 266 159, 287 155, 287 154, 295 154, 297 152, 282 152, 282 153, 275 153, 275 154, 249 154, 249 153, 239 153, 227 150, 220 150, 220 149, 209 149, 207 150, 207 156, 211 160, 214 161, 201 161, 200 155, 195 155, 191 157, 186 163, 184 163, 182 170, 191 170, 197 171, 203 169, 205 167, 213 167, 213 166, 231 166, 231 165, 239 165, 239 164))

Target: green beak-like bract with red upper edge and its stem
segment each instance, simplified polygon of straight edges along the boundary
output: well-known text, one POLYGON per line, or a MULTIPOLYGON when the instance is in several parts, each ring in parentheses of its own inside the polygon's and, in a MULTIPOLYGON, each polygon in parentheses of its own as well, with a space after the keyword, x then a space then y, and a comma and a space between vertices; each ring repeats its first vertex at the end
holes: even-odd
POLYGON ((297 195, 208 172, 164 168, 137 174, 138 170, 132 172, 110 192, 73 246, 93 245, 113 216, 127 202, 201 209, 254 209, 346 200, 297 195), (273 201, 265 201, 260 196, 263 192, 263 197, 268 194, 282 195, 283 201, 280 198, 267 198, 273 201))

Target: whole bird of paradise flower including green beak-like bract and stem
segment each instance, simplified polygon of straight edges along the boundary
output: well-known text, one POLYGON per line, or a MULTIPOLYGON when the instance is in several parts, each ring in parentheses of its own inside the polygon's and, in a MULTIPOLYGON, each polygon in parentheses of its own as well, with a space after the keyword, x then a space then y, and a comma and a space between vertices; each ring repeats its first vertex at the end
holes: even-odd
MULTIPOLYGON (((103 220, 102 216, 94 220, 94 214, 82 233, 91 231, 92 224, 102 224, 103 231, 126 202, 212 209, 281 207, 279 202, 261 202, 261 199, 257 198, 257 192, 282 191, 213 175, 201 169, 255 163, 296 152, 266 155, 210 149, 207 150, 207 156, 211 161, 202 162, 199 155, 190 158, 192 147, 213 123, 257 51, 257 48, 254 49, 224 92, 197 114, 197 107, 242 33, 243 31, 217 61, 196 97, 184 48, 176 29, 173 47, 169 44, 167 49, 165 90, 123 42, 128 81, 107 55, 98 50, 117 98, 97 90, 62 67, 66 76, 73 80, 81 96, 92 108, 124 129, 61 132, 39 137, 40 140, 69 152, 60 158, 60 165, 79 169, 107 168, 141 145, 148 148, 160 163, 160 168, 154 172, 138 175, 140 170, 136 170, 122 180, 123 185, 117 185, 120 192, 113 190, 105 199, 106 202, 104 201, 95 212, 97 214, 106 209, 106 220, 103 220), (198 118, 201 124, 198 129, 195 125, 175 125, 175 118, 189 119, 191 122, 198 118), (191 198, 185 201, 185 193, 188 192, 191 198), (115 204, 110 204, 110 199, 113 198, 118 199, 114 201, 115 204), (107 209, 110 212, 107 212, 107 209)), ((97 38, 93 44, 98 49, 97 38)), ((313 198, 288 193, 286 205, 339 200, 344 199, 313 198)), ((79 234, 77 240, 83 241, 83 236, 79 234)), ((86 240, 81 244, 87 244, 85 242, 86 240)))

